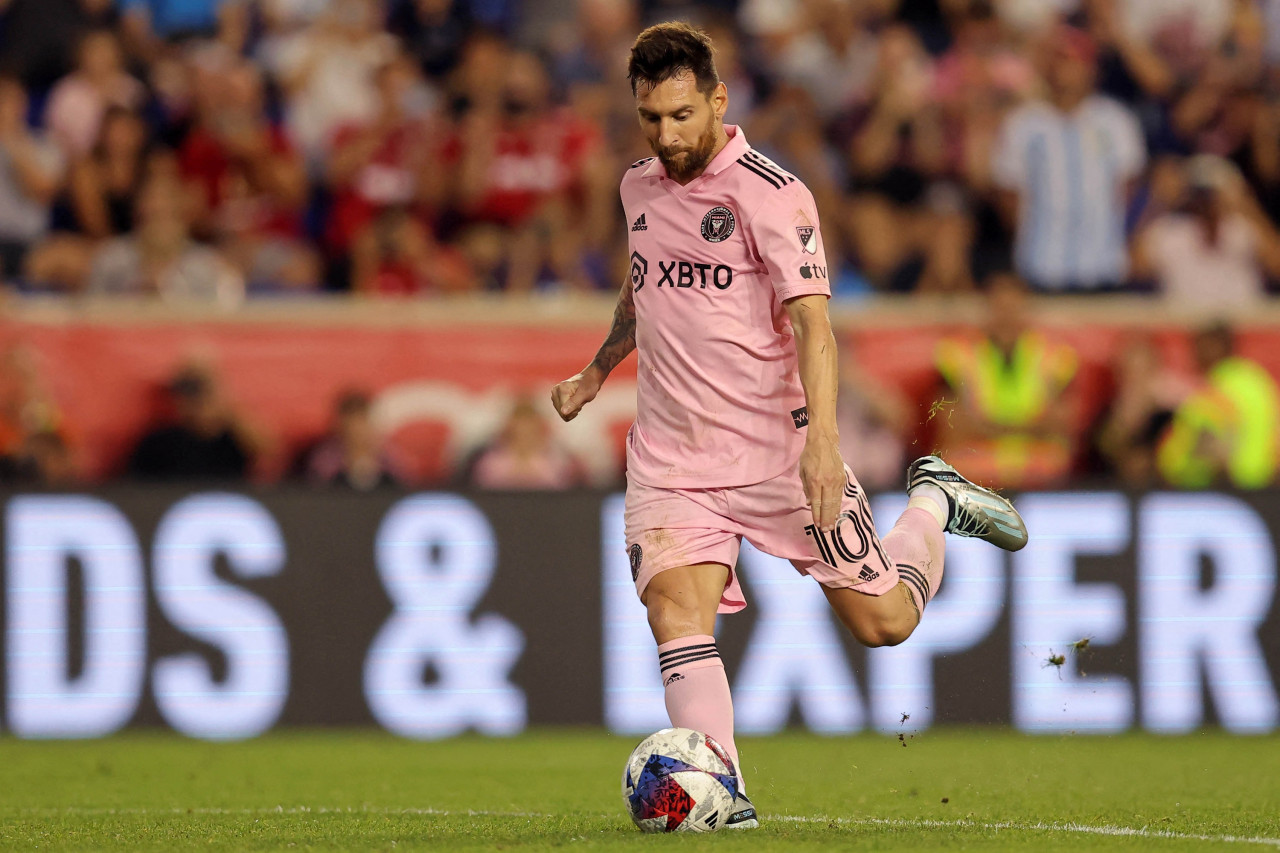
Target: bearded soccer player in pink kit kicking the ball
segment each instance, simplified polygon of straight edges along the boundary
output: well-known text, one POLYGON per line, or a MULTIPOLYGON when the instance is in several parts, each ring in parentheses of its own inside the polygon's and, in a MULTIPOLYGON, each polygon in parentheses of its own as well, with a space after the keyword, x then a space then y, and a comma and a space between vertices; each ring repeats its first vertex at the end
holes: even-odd
MULTIPOLYGON (((658 643, 675 726, 716 738, 739 765, 713 630, 746 606, 733 571, 745 537, 822 585, 865 646, 915 629, 942 580, 943 530, 1016 551, 1005 498, 936 456, 908 470, 906 511, 881 539, 837 450, 836 341, 813 196, 723 123, 712 42, 684 23, 645 29, 628 63, 654 158, 622 178, 631 275, 591 362, 552 391, 572 420, 632 350, 626 546, 658 643)), ((740 771, 741 775, 741 771, 740 771)), ((745 790, 726 826, 758 818, 745 790)))

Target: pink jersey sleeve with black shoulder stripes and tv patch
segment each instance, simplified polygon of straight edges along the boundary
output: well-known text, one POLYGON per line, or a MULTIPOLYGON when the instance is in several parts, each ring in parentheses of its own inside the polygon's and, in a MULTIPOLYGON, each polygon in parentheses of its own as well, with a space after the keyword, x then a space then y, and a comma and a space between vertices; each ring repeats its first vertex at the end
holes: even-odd
POLYGON ((796 296, 831 296, 818 206, 808 187, 796 181, 769 192, 750 224, 755 251, 769 270, 780 302, 796 296))

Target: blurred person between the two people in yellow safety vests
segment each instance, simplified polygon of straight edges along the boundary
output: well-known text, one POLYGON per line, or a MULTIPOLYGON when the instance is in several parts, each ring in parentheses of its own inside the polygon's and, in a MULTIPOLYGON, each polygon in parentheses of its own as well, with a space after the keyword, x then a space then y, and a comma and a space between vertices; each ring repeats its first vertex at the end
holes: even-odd
POLYGON ((1105 470, 1130 488, 1156 484, 1156 451, 1174 411, 1194 384, 1164 364, 1157 343, 1137 337, 1111 365, 1112 389, 1094 433, 1105 470))

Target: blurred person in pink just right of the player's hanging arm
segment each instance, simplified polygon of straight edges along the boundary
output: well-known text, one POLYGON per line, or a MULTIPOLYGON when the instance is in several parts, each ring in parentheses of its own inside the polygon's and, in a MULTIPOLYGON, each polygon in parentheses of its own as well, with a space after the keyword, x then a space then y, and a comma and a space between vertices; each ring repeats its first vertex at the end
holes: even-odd
POLYGON ((867 373, 852 341, 841 342, 840 357, 840 455, 864 488, 899 488, 911 429, 906 396, 867 373))

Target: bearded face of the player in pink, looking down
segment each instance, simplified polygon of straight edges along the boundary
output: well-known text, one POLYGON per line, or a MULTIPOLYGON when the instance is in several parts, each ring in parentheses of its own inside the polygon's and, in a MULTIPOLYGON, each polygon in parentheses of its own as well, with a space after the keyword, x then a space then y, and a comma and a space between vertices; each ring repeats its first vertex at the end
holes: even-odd
POLYGON ((640 129, 667 174, 678 182, 695 178, 710 163, 727 106, 724 83, 707 96, 690 72, 636 90, 640 129))

